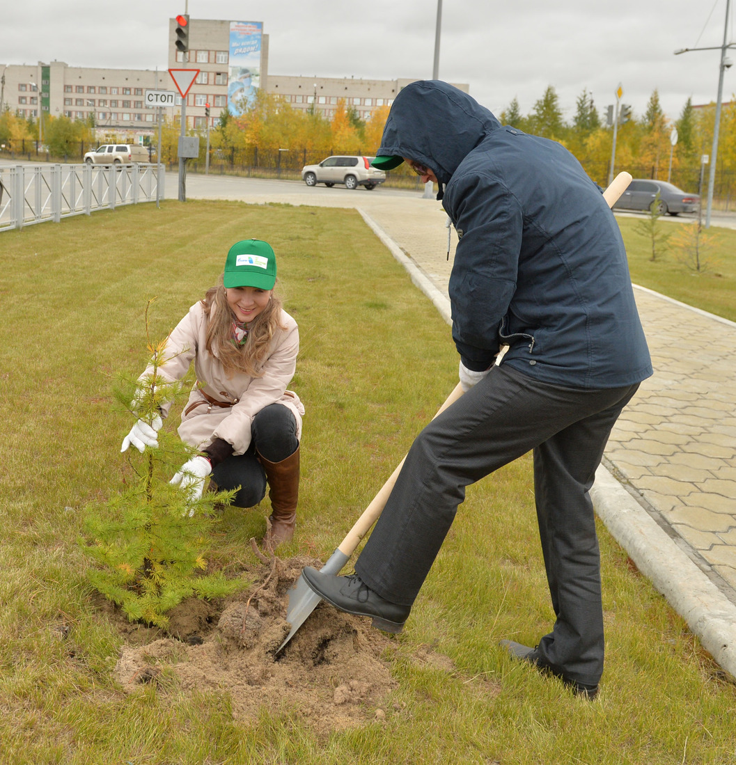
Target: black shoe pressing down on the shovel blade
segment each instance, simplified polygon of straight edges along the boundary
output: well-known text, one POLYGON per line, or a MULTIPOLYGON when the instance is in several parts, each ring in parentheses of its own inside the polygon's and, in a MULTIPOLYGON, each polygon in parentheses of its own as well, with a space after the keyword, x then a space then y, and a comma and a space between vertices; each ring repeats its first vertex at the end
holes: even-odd
POLYGON ((308 566, 301 572, 312 591, 337 610, 357 617, 373 617, 371 627, 385 632, 399 633, 409 617, 411 606, 399 606, 386 601, 371 590, 357 574, 336 576, 323 574, 308 566))

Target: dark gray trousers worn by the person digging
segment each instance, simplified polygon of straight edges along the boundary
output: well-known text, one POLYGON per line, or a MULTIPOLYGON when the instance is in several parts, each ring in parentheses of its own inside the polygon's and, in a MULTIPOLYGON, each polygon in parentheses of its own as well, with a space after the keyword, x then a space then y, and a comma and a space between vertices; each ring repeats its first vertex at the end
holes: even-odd
POLYGON ((603 672, 601 565, 589 491, 611 428, 639 383, 579 389, 538 382, 508 365, 433 420, 409 450, 356 561, 360 578, 411 605, 450 529, 465 487, 534 450, 534 489, 552 633, 540 662, 594 685, 603 672))

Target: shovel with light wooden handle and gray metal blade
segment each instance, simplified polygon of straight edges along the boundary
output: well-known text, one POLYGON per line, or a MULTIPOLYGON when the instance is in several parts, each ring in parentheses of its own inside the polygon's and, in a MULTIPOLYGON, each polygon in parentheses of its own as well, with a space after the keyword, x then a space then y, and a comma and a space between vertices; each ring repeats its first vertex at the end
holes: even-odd
MULTIPOLYGON (((619 173, 611 184, 603 192, 603 198, 606 200, 608 207, 613 207, 617 199, 624 193, 624 190, 631 182, 631 175, 626 171, 619 173)), ((500 364, 503 359, 503 354, 508 350, 507 346, 502 347, 501 353, 498 354, 496 363, 500 364)), ((463 395, 463 389, 458 383, 455 389, 448 396, 447 401, 438 409, 437 417, 441 412, 444 412, 449 405, 456 402, 463 395)), ((432 419, 434 419, 433 417, 432 419)), ((404 460, 406 457, 404 457, 404 460)), ((363 511, 363 515, 355 522, 352 529, 347 532, 347 536, 335 552, 327 560, 327 563, 321 568, 325 574, 339 574, 340 570, 350 559, 350 555, 353 555, 355 549, 360 543, 360 540, 370 531, 373 524, 383 513, 383 507, 386 505, 386 501, 389 499, 389 494, 393 489, 396 478, 399 477, 399 473, 404 465, 404 460, 399 463, 399 467, 393 471, 389 480, 383 484, 383 487, 379 490, 379 493, 373 497, 373 501, 363 511)), ((286 609, 286 620, 291 624, 291 631, 286 636, 286 640, 278 646, 276 653, 280 653, 286 643, 294 636, 295 632, 301 627, 309 614, 318 606, 322 598, 316 594, 309 587, 306 581, 304 581, 304 575, 300 575, 296 584, 289 590, 288 593, 288 608, 286 609)))

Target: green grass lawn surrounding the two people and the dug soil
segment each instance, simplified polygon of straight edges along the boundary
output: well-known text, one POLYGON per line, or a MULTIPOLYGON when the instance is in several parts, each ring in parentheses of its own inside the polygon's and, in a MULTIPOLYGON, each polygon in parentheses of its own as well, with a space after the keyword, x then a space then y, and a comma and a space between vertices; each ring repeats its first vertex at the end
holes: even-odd
MULTIPOLYGON (((621 226, 635 282, 734 318, 732 261, 720 277, 649 265, 621 226)), ((602 526, 598 700, 498 648, 533 644, 553 621, 526 457, 469 488, 386 653, 397 688, 385 720, 320 737, 288 708, 234 721, 227 688, 122 692, 122 637, 77 546, 86 504, 129 475, 112 380, 145 366, 148 299, 151 334, 164 335, 251 236, 274 246, 301 334, 299 525, 282 557, 327 560, 457 382, 450 327, 353 210, 166 202, 0 235, 0 763, 734 762, 736 687, 602 526), (418 662, 428 649, 447 661, 418 662)), ((732 252, 731 233, 719 236, 732 252)), ((264 516, 226 513, 222 565, 256 562, 247 540, 264 516)))

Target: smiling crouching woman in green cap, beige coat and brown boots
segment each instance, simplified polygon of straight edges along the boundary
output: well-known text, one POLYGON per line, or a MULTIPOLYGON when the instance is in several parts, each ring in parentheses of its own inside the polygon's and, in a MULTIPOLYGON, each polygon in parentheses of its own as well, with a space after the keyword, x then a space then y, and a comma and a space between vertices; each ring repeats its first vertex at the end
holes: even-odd
MULTIPOLYGON (((197 382, 181 415, 182 441, 200 450, 172 478, 201 496, 207 477, 220 490, 239 488, 233 504, 251 507, 269 485, 273 547, 294 535, 299 490, 299 441, 304 406, 287 390, 296 370, 299 331, 274 293, 276 259, 259 239, 235 243, 220 284, 171 332, 158 373, 181 379, 194 363, 197 382)), ((142 377, 152 371, 149 366, 142 377)), ((168 414, 169 406, 161 408, 168 414)), ((161 418, 138 420, 122 443, 158 446, 161 418)))

